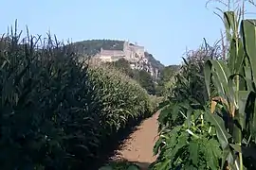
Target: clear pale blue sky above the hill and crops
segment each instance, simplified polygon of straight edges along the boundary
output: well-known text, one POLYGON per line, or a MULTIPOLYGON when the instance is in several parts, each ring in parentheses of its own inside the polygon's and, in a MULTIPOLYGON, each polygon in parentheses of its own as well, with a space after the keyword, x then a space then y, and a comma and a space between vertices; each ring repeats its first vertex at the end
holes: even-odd
POLYGON ((18 29, 78 42, 113 39, 137 42, 163 64, 178 64, 203 38, 213 44, 223 23, 206 0, 0 0, 0 34, 18 29))

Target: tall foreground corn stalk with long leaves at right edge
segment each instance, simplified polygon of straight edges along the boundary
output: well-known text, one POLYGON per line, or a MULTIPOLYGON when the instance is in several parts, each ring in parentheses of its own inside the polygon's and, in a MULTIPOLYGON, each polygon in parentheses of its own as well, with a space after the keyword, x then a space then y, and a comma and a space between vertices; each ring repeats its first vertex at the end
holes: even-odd
POLYGON ((228 59, 208 60, 205 80, 211 101, 207 116, 223 149, 222 167, 243 170, 256 168, 256 20, 241 21, 239 16, 235 11, 224 12, 228 59))

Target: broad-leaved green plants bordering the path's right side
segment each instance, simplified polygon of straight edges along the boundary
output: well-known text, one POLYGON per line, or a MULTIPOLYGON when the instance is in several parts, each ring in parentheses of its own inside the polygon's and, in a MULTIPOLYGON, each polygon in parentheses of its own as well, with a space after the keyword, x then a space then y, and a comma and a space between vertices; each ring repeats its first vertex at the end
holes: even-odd
POLYGON ((205 60, 215 57, 209 52, 211 48, 200 48, 184 59, 174 76, 173 88, 166 92, 168 100, 160 104, 163 107, 158 117, 160 135, 154 147, 158 156, 151 164, 154 170, 220 167, 222 150, 216 130, 205 121, 210 109, 206 107, 203 66, 205 60))

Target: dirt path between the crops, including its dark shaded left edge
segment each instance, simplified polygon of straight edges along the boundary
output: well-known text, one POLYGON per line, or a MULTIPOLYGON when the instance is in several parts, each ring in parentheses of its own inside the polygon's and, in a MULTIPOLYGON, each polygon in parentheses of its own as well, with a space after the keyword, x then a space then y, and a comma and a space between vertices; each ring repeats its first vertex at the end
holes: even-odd
POLYGON ((99 170, 108 162, 114 162, 114 164, 134 163, 142 170, 147 170, 156 159, 156 156, 153 156, 153 147, 158 139, 158 115, 157 111, 151 117, 130 122, 115 136, 109 137, 107 142, 102 145, 99 159, 92 162, 91 167, 86 170, 99 170))

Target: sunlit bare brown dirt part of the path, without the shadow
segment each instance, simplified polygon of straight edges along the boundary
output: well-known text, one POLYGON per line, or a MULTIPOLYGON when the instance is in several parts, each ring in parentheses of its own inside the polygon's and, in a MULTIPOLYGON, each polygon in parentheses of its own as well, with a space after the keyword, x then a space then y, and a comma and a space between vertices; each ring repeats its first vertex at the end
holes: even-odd
POLYGON ((156 157, 153 156, 153 147, 157 140, 157 118, 158 112, 154 116, 142 122, 129 138, 124 142, 114 160, 127 160, 136 162, 141 168, 146 167, 156 157))

